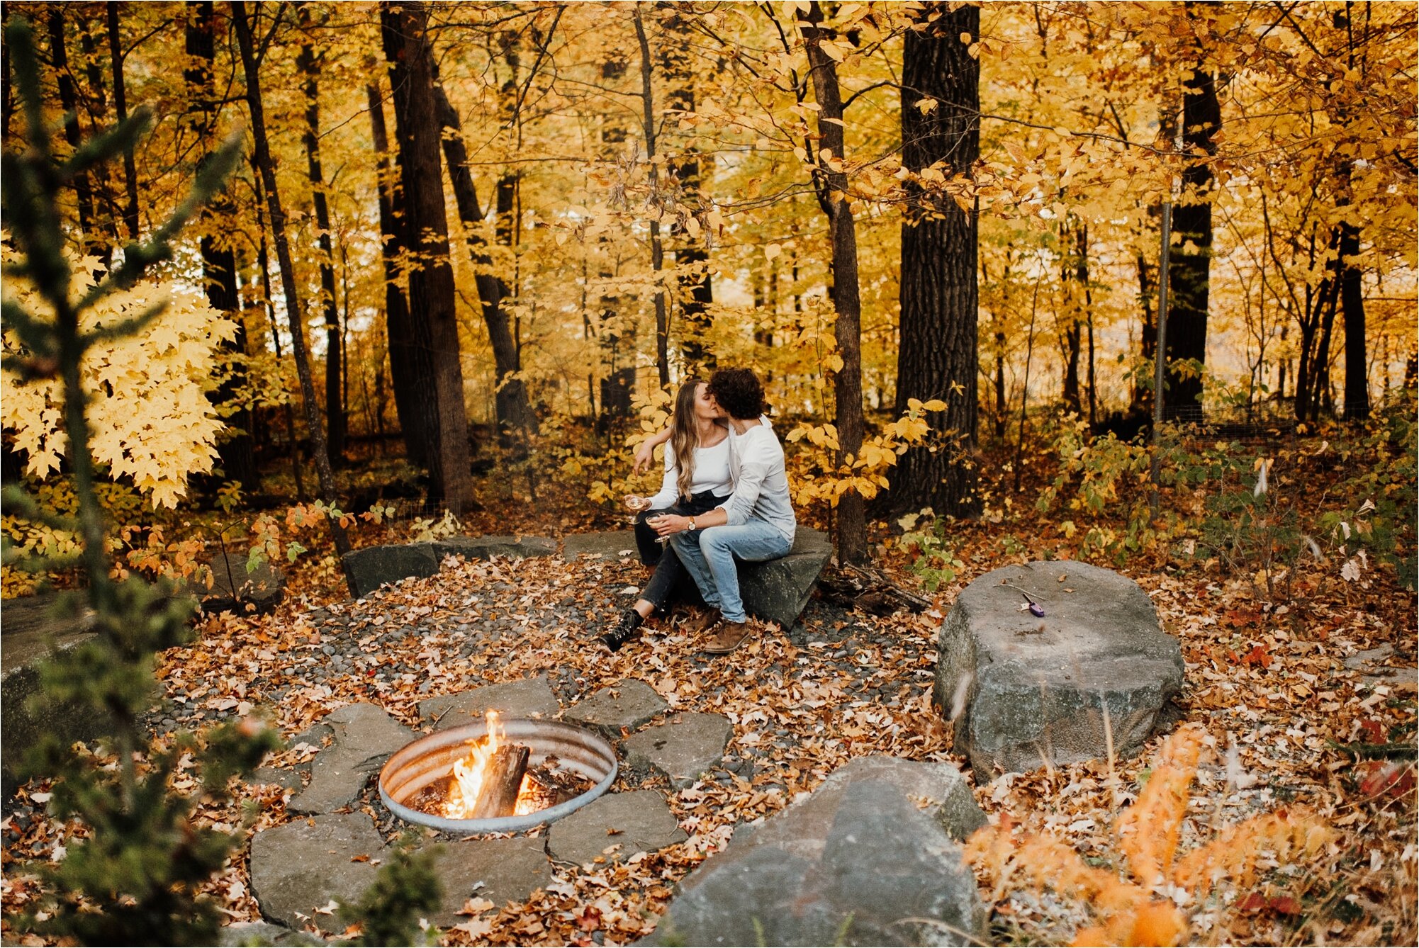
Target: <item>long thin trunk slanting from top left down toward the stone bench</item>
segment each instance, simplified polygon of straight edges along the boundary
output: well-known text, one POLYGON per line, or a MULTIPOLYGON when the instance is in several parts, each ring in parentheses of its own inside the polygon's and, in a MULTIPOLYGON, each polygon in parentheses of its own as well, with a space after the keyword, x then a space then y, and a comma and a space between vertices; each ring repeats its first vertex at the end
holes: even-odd
MULTIPOLYGON (((305 352, 305 328, 301 297, 295 290, 295 265, 291 260, 291 244, 285 237, 285 210, 281 207, 281 192, 275 183, 275 162, 267 143, 265 111, 261 105, 261 77, 257 72, 255 43, 251 37, 251 23, 247 20, 244 0, 233 0, 231 20, 237 31, 237 45, 241 50, 241 68, 247 79, 247 106, 251 109, 251 139, 255 143, 257 167, 265 186, 267 213, 271 216, 271 236, 275 240, 275 257, 281 265, 281 291, 285 295, 285 314, 291 322, 291 351, 295 356, 295 373, 301 379, 301 402, 305 409, 305 423, 311 430, 311 444, 315 473, 321 481, 321 500, 335 505, 335 475, 331 473, 331 458, 325 450, 325 430, 321 427, 321 412, 315 403, 315 382, 311 377, 311 360, 305 352)), ((335 552, 343 556, 350 551, 345 528, 333 517, 326 518, 335 552)), ((349 576, 346 576, 349 580, 349 576)), ((355 586, 350 583, 350 593, 355 586)))

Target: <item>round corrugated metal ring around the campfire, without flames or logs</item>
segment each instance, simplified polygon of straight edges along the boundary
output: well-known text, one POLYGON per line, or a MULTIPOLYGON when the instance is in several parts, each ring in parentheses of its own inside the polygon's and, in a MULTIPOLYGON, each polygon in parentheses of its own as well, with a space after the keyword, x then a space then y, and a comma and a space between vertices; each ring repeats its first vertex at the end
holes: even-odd
POLYGON ((515 833, 575 813, 610 789, 616 781, 616 751, 596 734, 561 721, 511 718, 501 722, 502 735, 511 744, 526 745, 531 759, 556 755, 559 765, 575 771, 596 786, 579 796, 524 816, 497 816, 480 820, 458 820, 436 816, 406 806, 434 781, 448 776, 455 761, 468 752, 468 742, 488 731, 484 721, 474 721, 447 731, 419 738, 396 751, 379 772, 379 799, 396 816, 410 823, 421 823, 447 833, 515 833))

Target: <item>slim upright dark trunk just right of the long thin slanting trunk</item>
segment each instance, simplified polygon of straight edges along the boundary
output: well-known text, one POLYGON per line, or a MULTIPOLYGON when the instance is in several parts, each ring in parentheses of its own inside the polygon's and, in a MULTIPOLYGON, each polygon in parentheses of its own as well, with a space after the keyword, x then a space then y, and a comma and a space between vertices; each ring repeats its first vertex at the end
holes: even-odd
MULTIPOLYGON (((309 6, 301 6, 301 24, 309 26, 309 6)), ((321 58, 309 43, 301 45, 295 65, 305 77, 305 166, 311 176, 316 238, 321 247, 321 307, 325 311, 325 427, 331 464, 345 460, 345 400, 342 392, 341 315, 335 305, 335 248, 331 244, 331 209, 321 169, 321 58)))

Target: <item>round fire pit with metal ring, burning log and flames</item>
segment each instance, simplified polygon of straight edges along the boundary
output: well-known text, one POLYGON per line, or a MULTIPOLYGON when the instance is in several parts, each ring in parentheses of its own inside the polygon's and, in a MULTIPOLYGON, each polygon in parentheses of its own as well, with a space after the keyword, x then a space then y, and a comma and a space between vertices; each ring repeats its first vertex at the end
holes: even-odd
POLYGON ((487 720, 393 754, 379 796, 396 816, 450 833, 512 833, 559 820, 604 793, 616 752, 559 721, 487 720))

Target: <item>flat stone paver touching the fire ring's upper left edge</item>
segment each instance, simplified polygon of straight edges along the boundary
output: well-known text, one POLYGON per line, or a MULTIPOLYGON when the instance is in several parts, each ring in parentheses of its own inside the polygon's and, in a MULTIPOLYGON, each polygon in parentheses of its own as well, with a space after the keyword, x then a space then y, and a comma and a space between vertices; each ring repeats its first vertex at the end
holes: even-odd
POLYGON ((373 704, 346 704, 331 711, 322 724, 335 741, 311 762, 311 782, 291 798, 295 813, 329 813, 353 800, 370 773, 390 754, 414 739, 414 732, 373 704))

